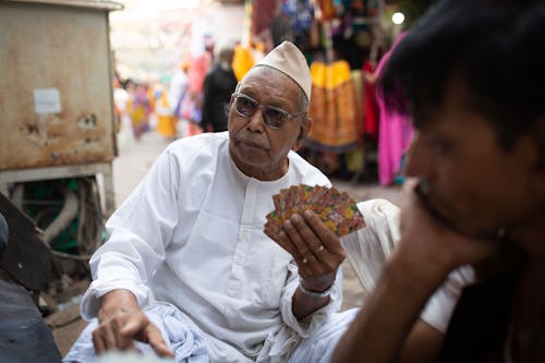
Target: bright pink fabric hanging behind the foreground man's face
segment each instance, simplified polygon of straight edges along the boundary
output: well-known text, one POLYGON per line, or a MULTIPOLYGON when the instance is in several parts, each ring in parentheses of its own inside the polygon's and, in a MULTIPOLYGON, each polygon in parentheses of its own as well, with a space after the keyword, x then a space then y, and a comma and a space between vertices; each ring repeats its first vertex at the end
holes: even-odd
MULTIPOLYGON (((388 61, 391 50, 404 37, 402 33, 391 49, 386 52, 377 65, 376 74, 379 76, 388 61)), ((409 147, 414 129, 409 116, 400 114, 389 110, 380 93, 376 95, 379 122, 378 122, 378 181, 382 185, 389 185, 393 182, 393 177, 399 172, 401 156, 409 147)))

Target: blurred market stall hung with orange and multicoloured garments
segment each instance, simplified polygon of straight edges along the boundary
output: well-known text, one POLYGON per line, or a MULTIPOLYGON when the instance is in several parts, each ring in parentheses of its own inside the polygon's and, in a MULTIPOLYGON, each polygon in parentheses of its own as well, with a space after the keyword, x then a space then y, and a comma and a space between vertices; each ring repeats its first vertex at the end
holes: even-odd
MULTIPOLYGON (((379 135, 389 129, 380 125, 374 85, 378 62, 401 31, 391 20, 398 7, 384 0, 254 0, 246 8, 250 45, 269 49, 290 40, 307 58, 313 128, 300 153, 327 174, 378 180, 388 159, 379 154, 401 158, 396 150, 403 148, 379 135)), ((399 173, 399 160, 393 165, 380 179, 385 184, 399 173)))

